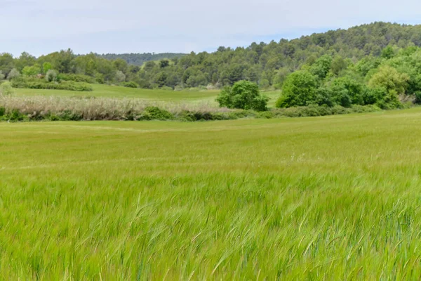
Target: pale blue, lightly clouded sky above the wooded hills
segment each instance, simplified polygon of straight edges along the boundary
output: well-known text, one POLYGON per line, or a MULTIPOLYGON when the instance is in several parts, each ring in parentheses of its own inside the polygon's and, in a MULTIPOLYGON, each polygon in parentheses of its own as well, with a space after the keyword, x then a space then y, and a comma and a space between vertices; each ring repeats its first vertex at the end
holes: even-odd
POLYGON ((375 21, 421 23, 420 0, 0 0, 0 53, 189 53, 375 21))

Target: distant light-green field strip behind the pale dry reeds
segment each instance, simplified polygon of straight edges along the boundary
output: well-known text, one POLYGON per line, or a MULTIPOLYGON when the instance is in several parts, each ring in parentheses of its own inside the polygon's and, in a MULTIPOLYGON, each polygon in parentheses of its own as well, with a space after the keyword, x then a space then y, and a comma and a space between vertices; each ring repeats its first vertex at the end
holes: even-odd
MULTIPOLYGON (((215 103, 218 96, 218 90, 210 91, 166 91, 166 90, 149 90, 149 89, 133 89, 121 86, 108 86, 100 84, 92 84, 93 91, 77 92, 63 90, 46 90, 46 89, 14 89, 17 96, 94 96, 103 98, 140 98, 144 100, 171 101, 171 102, 196 102, 206 101, 215 103)), ((279 97, 279 91, 265 92, 269 96, 269 107, 273 107, 276 98, 279 97)))

